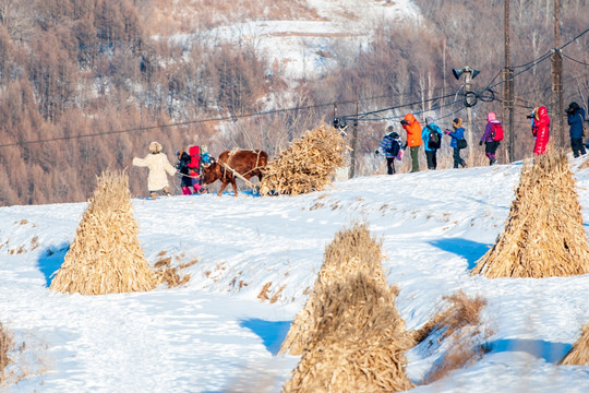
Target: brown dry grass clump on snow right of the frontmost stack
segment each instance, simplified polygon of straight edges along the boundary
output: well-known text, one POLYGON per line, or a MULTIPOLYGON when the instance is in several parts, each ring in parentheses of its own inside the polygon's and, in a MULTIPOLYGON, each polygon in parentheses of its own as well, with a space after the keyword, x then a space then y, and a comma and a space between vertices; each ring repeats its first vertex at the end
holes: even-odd
POLYGON ((445 297, 448 307, 437 313, 422 329, 412 332, 417 343, 430 340, 430 345, 450 343, 443 355, 425 377, 424 383, 431 383, 452 370, 471 366, 486 353, 484 341, 492 332, 481 323, 481 311, 486 300, 481 297, 468 297, 464 291, 445 297))

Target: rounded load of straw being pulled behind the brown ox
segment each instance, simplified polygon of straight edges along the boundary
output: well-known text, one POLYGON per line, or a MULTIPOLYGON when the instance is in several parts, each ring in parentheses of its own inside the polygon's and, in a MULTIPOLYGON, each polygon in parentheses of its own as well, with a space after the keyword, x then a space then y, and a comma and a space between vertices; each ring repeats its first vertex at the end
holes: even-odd
POLYGON ((330 126, 322 123, 306 131, 263 169, 260 194, 297 195, 322 190, 346 164, 346 150, 344 136, 330 126))

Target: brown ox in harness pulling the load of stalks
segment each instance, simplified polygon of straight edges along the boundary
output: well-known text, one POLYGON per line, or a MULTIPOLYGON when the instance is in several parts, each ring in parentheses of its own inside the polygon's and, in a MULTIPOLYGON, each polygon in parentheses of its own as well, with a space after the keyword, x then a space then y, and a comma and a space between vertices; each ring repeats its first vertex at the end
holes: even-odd
POLYGON ((257 176, 262 180, 261 168, 268 164, 268 154, 264 151, 225 151, 219 155, 216 163, 205 166, 203 172, 203 183, 211 184, 217 180, 221 181, 221 188, 217 195, 221 195, 227 184, 233 187, 233 195, 237 196, 236 177, 225 165, 250 180, 252 176, 257 176))

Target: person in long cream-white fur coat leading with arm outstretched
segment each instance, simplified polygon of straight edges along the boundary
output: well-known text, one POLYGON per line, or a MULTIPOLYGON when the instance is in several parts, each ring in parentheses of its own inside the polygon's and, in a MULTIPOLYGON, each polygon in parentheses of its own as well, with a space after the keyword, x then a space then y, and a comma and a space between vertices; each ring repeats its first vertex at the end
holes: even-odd
POLYGON ((176 168, 168 160, 168 156, 161 153, 161 145, 158 142, 149 143, 149 154, 145 158, 133 158, 133 165, 137 167, 147 167, 149 175, 147 176, 147 189, 152 199, 155 200, 158 191, 164 191, 166 195, 170 195, 169 182, 166 172, 170 176, 176 175, 176 168))

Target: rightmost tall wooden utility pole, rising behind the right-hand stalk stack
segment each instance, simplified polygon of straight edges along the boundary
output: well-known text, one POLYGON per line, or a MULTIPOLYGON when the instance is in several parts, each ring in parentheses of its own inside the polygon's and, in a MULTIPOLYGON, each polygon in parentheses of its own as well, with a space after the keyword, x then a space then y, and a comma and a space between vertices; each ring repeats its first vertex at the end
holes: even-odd
POLYGON ((554 0, 554 50, 552 53, 552 111, 553 123, 557 128, 558 145, 566 146, 563 119, 563 56, 560 46, 558 0, 554 0))

